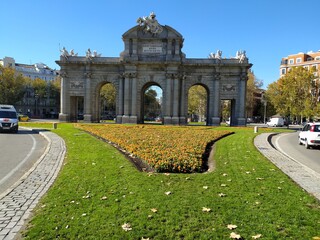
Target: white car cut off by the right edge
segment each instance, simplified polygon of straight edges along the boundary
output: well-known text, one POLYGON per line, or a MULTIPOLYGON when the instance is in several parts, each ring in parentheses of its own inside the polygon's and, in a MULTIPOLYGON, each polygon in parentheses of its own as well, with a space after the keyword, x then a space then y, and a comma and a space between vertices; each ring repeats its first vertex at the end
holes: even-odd
POLYGON ((299 133, 299 144, 307 149, 320 146, 320 123, 307 123, 299 133))

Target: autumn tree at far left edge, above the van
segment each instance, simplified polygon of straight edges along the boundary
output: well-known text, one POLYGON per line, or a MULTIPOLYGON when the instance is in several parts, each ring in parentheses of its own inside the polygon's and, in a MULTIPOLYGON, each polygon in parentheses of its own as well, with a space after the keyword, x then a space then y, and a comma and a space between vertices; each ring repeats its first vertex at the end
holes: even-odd
POLYGON ((13 68, 0 66, 0 103, 14 105, 24 94, 26 78, 13 68))

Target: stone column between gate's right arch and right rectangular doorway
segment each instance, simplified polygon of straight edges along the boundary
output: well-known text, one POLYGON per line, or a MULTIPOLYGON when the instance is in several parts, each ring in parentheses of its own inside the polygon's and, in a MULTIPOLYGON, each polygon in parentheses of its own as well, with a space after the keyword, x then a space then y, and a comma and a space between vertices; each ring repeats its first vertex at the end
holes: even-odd
POLYGON ((210 98, 210 115, 211 115, 211 125, 220 125, 220 73, 216 73, 213 79, 213 91, 212 98, 210 98))

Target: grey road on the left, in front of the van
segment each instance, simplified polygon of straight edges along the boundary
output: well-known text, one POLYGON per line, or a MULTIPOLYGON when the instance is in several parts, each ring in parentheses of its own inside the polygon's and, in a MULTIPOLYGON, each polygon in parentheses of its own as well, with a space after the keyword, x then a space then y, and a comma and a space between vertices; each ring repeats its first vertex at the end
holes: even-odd
POLYGON ((0 133, 0 195, 31 169, 46 146, 47 141, 30 130, 0 133))

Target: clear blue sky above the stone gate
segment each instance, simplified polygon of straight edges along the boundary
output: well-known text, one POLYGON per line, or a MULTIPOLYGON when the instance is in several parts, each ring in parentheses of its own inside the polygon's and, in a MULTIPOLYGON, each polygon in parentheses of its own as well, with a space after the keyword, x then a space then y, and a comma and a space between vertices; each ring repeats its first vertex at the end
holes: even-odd
POLYGON ((187 58, 245 50, 266 88, 279 78, 282 57, 320 50, 319 7, 319 0, 2 1, 0 59, 59 69, 62 47, 118 57, 122 34, 154 11, 161 25, 182 34, 187 58))

